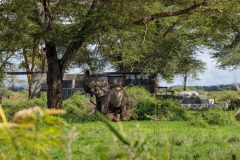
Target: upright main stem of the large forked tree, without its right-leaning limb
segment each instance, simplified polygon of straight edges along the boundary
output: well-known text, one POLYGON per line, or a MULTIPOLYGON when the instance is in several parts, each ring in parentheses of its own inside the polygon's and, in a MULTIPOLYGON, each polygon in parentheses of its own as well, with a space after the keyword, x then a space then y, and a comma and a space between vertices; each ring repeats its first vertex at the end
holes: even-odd
POLYGON ((48 108, 62 108, 63 69, 59 65, 56 46, 54 43, 46 43, 46 55, 47 55, 47 63, 48 63, 48 71, 47 71, 48 108))

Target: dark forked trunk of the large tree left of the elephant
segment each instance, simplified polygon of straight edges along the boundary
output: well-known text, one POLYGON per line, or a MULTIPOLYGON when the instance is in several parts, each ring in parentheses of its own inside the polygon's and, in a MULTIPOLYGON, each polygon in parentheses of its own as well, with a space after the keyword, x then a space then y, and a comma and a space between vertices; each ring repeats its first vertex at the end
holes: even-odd
MULTIPOLYGON (((97 12, 98 0, 93 0, 90 9, 88 10, 87 18, 81 29, 76 34, 76 37, 70 42, 66 52, 61 59, 57 57, 56 45, 53 40, 46 42, 46 57, 47 57, 47 85, 48 95, 47 102, 48 108, 62 108, 63 95, 62 95, 62 82, 64 70, 68 67, 69 63, 73 60, 76 52, 82 47, 86 38, 96 32, 93 30, 94 22, 97 20, 94 18, 97 12)), ((42 0, 41 2, 43 10, 41 8, 39 12, 39 22, 42 25, 45 32, 49 35, 52 33, 52 21, 54 20, 51 14, 51 5, 49 0, 42 0)), ((100 7, 101 8, 101 7, 100 7)), ((97 30, 96 27, 95 30, 97 30)))

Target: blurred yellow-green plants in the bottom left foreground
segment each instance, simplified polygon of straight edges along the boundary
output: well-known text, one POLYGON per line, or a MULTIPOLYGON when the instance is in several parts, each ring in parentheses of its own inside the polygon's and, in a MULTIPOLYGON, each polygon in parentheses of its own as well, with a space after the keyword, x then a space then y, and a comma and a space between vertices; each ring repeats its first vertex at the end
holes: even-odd
MULTIPOLYGON (((1 107, 0 107, 1 109, 1 107)), ((8 160, 52 159, 51 155, 61 152, 66 123, 49 114, 39 116, 20 124, 7 123, 1 109, 0 157, 8 160), (55 150, 56 149, 56 150, 55 150)))

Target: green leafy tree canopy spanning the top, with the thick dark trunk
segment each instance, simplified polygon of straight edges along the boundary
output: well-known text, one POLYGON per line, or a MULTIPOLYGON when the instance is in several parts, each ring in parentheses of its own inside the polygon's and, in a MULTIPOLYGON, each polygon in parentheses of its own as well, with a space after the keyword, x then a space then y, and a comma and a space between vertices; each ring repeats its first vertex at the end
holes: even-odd
MULTIPOLYGON (((239 66, 238 0, 4 0, 0 51, 44 48, 48 106, 62 105, 62 78, 70 64, 173 78, 184 54, 205 46, 220 66, 239 66), (95 46, 90 49, 89 46, 95 46), (77 60, 78 59, 78 60, 77 60), (97 67, 96 67, 97 66, 97 67)), ((30 55, 31 56, 31 55, 30 55)), ((25 56, 25 64, 26 64, 25 56)), ((191 59, 194 62, 194 59, 191 59)))

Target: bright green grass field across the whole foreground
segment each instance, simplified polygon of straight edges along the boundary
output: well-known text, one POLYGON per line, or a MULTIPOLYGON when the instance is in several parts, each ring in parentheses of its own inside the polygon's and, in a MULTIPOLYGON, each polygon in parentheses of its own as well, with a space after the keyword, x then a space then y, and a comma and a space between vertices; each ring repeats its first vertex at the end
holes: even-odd
POLYGON ((0 139, 4 140, 1 142, 4 145, 0 145, 1 159, 14 159, 16 156, 13 153, 16 151, 24 160, 240 158, 239 124, 207 127, 192 126, 183 121, 128 121, 111 124, 127 143, 123 143, 119 135, 117 138, 109 126, 100 121, 67 125, 60 123, 56 127, 38 125, 38 133, 36 129, 11 129, 10 136, 17 146, 15 150, 13 144, 4 140, 5 133, 0 132, 0 139), (44 155, 39 158, 41 154, 44 155))

